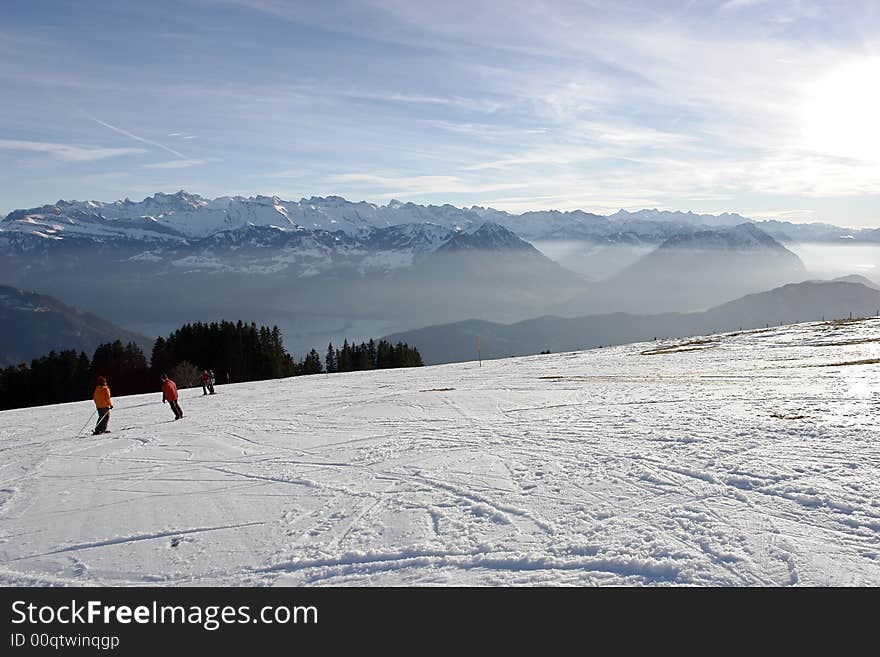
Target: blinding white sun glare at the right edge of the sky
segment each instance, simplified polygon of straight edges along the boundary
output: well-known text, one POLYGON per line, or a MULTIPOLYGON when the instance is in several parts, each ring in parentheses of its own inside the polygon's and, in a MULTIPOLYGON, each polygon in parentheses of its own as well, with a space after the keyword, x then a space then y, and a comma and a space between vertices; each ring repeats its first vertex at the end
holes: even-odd
POLYGON ((810 150, 880 162, 880 57, 853 62, 811 85, 804 129, 810 150))

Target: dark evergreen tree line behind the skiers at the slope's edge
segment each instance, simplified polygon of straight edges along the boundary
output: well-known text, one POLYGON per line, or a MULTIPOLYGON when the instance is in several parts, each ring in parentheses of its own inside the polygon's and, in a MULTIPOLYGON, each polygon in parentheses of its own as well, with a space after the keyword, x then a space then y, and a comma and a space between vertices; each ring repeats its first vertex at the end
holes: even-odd
POLYGON ((29 366, 2 369, 0 410, 89 399, 99 376, 107 378, 114 396, 121 396, 157 391, 163 373, 186 388, 198 385, 206 369, 214 371, 217 383, 229 383, 421 365, 414 347, 372 339, 360 345, 345 340, 340 349, 331 342, 323 360, 312 349, 296 361, 277 326, 195 322, 157 338, 149 364, 137 344, 117 340, 100 345, 91 359, 85 352, 52 351, 29 366))

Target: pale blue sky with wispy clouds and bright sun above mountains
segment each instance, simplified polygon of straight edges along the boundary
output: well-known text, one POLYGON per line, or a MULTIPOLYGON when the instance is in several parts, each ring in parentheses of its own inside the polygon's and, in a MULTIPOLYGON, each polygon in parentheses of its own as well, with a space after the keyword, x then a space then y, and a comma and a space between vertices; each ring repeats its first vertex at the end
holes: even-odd
POLYGON ((0 210, 336 194, 880 227, 876 0, 8 0, 0 210))

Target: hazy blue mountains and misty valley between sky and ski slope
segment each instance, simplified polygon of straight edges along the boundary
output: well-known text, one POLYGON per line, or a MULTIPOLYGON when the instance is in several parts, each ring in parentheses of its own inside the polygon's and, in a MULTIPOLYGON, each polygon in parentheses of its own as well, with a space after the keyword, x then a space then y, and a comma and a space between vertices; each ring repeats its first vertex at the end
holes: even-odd
MULTIPOLYGON (((10 213, 0 222, 0 283, 94 313, 142 343, 184 322, 246 318, 277 324, 298 355, 404 336, 431 363, 475 357, 478 335, 484 354, 500 357, 873 314, 876 240, 875 231, 730 214, 514 215, 179 192, 10 213), (788 289, 782 315, 758 298, 731 304, 856 274, 842 297, 840 285, 788 289), (464 333, 446 327, 462 322, 464 333), (517 323, 518 338, 498 333, 517 323)), ((10 299, 0 296, 7 322, 33 320, 34 308, 16 315, 10 299)), ((37 355, 24 344, 16 352, 37 355)))

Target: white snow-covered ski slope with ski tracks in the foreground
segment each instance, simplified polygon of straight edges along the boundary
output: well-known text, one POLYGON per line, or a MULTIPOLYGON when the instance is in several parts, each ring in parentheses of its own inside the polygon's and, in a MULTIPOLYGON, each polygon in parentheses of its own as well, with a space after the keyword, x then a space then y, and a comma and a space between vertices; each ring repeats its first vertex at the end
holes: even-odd
POLYGON ((3 412, 0 583, 877 586, 871 359, 875 319, 3 412))

